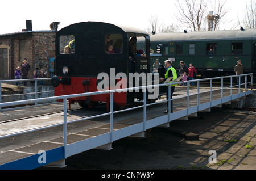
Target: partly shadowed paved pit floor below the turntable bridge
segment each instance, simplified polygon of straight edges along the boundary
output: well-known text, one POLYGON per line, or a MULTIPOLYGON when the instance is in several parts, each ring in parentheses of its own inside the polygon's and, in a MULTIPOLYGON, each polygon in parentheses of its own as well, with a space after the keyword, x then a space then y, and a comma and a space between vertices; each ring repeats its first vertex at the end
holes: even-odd
POLYGON ((187 121, 172 121, 170 128, 154 128, 144 138, 118 140, 112 150, 88 150, 69 157, 63 169, 82 169, 88 174, 91 169, 256 170, 255 117, 256 112, 213 108, 187 121), (174 128, 198 134, 199 139, 173 134, 174 128), (247 140, 250 149, 245 147, 247 140), (209 164, 210 150, 217 151, 217 163, 213 165, 209 164))

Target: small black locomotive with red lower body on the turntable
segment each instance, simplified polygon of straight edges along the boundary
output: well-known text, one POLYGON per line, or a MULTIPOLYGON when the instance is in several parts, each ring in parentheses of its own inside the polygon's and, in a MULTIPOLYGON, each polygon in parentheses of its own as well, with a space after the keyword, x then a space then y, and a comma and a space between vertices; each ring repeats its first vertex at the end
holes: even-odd
MULTIPOLYGON (((145 31, 102 22, 72 24, 56 33, 55 76, 51 80, 55 96, 116 89, 115 85, 121 80, 126 85, 122 84, 119 89, 131 87, 129 73, 147 74, 149 57, 150 37, 145 31), (120 74, 126 76, 117 78, 120 74), (106 77, 114 85, 102 87, 101 81, 106 77), (111 81, 113 78, 115 80, 111 81)), ((141 85, 139 81, 137 86, 141 85)), ((142 93, 116 92, 114 104, 125 107, 133 104, 135 98, 143 98, 142 93)), ((103 102, 108 108, 109 101, 110 94, 69 99, 69 103, 78 102, 82 107, 94 107, 103 102)))

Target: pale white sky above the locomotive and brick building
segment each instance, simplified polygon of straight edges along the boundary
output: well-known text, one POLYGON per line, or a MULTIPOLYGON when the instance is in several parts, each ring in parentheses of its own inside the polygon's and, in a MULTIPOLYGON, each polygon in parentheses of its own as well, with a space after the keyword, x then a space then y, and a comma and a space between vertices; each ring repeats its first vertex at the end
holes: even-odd
MULTIPOLYGON (((242 16, 246 1, 227 0, 226 7, 229 12, 226 18, 233 21, 221 25, 220 30, 240 28, 234 24, 237 22, 237 16, 242 16)), ((52 22, 60 22, 58 29, 60 30, 69 24, 86 21, 113 23, 147 30, 151 15, 157 15, 159 22, 166 25, 175 25, 177 24, 175 2, 175 0, 2 1, 0 35, 26 29, 26 20, 32 20, 33 31, 50 30, 49 25, 52 22)))

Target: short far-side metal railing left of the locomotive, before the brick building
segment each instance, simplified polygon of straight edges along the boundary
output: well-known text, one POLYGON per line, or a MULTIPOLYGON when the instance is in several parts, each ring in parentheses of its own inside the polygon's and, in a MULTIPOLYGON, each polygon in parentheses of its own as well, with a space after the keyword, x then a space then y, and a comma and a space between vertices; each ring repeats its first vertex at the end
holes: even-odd
MULTIPOLYGON (((2 95, 2 90, 0 91, 0 103, 2 103, 2 98, 5 98, 6 96, 20 96, 20 95, 35 95, 35 99, 38 98, 38 95, 39 94, 43 94, 43 93, 47 93, 47 92, 54 92, 54 91, 41 91, 41 92, 38 92, 38 82, 39 81, 49 81, 51 80, 51 78, 40 78, 40 79, 15 79, 15 80, 3 80, 3 81, 0 81, 0 90, 2 88, 2 83, 6 83, 6 82, 11 82, 11 83, 14 83, 14 82, 34 82, 35 83, 35 92, 29 92, 29 93, 26 93, 26 94, 8 94, 8 95, 2 95)), ((26 87, 26 86, 25 86, 26 87)), ((34 106, 37 106, 38 103, 35 103, 34 106)), ((33 107, 33 106, 30 106, 30 107, 33 107)), ((24 108, 24 107, 20 107, 20 108, 24 108)), ((27 106, 26 106, 27 108, 27 106)), ((17 108, 15 108, 17 109, 17 108)), ((2 107, 0 107, 0 111, 10 111, 10 110, 13 110, 13 108, 8 108, 8 109, 5 109, 5 110, 2 110, 2 107)))

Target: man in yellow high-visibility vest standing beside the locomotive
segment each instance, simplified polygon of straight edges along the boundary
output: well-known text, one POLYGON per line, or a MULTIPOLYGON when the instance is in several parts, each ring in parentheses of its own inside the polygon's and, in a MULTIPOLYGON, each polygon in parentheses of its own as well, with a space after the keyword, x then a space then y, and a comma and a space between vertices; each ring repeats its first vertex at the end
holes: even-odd
MULTIPOLYGON (((172 83, 174 82, 173 80, 175 80, 177 77, 180 77, 180 74, 177 73, 175 68, 171 66, 170 60, 164 61, 164 66, 166 67, 166 74, 164 74, 164 78, 160 78, 160 81, 166 81, 167 78, 172 77, 172 81, 168 82, 168 83, 172 83)), ((172 99, 172 94, 174 94, 175 86, 177 86, 177 84, 171 85, 171 99, 172 99)), ((168 93, 169 93, 168 86, 166 86, 166 99, 169 99, 168 93)), ((167 110, 164 111, 164 113, 168 113, 168 109, 169 109, 169 104, 167 102, 167 110)), ((171 113, 172 112, 173 112, 173 108, 172 108, 172 100, 171 100, 171 113)))

